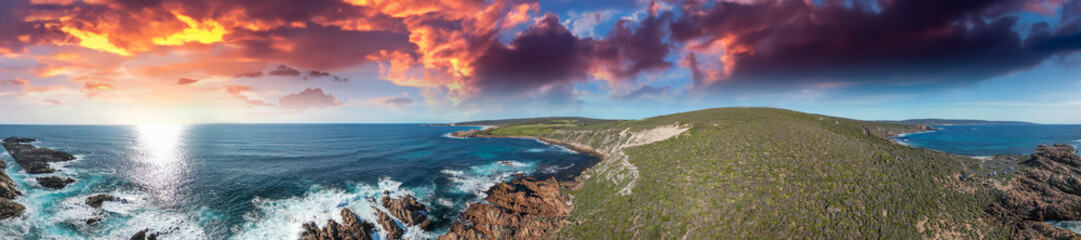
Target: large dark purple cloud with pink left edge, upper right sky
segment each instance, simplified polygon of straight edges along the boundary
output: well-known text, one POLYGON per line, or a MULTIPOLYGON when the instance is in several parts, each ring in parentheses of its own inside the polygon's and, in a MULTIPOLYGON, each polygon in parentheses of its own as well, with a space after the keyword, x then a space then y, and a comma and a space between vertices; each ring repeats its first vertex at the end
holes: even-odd
POLYGON ((695 14, 684 14, 670 28, 699 85, 851 81, 948 88, 1028 69, 1081 48, 1076 21, 1057 29, 1035 24, 1026 39, 1020 31, 1027 28, 1006 14, 1020 2, 685 4, 682 11, 695 14))

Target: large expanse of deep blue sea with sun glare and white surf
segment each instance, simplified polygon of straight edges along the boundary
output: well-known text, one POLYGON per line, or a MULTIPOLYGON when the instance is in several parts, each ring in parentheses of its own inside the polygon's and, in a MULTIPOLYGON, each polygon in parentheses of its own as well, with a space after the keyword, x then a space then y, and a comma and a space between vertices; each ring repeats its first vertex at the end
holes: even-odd
MULTIPOLYGON (((419 124, 0 125, 75 155, 54 164, 78 179, 46 190, 4 151, 24 192, 24 217, 0 222, 3 239, 295 239, 301 224, 341 221, 342 208, 375 219, 370 198, 412 194, 445 231, 492 184, 516 173, 549 176, 597 159, 532 139, 453 138, 470 126, 419 124), (103 210, 82 201, 111 194, 103 210), (95 215, 104 222, 83 223, 95 215)), ((35 175, 40 176, 40 175, 35 175)), ((557 175, 557 177, 568 177, 557 175)))

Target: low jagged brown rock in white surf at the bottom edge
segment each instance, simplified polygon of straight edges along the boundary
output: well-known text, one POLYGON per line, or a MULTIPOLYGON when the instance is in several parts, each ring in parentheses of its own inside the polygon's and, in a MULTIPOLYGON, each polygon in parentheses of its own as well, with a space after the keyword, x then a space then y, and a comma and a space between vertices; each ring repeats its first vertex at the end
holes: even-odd
POLYGON ((319 229, 319 226, 315 222, 309 222, 304 224, 304 234, 301 234, 302 240, 371 240, 372 229, 375 228, 371 223, 364 222, 357 217, 349 209, 342 209, 342 222, 338 224, 333 219, 326 221, 326 227, 319 229))

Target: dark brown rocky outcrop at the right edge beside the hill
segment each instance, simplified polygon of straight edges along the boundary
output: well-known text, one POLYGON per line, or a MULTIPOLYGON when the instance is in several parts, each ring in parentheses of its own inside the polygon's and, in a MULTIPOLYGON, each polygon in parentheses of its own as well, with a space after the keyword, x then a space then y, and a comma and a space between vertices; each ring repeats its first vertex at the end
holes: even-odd
POLYGON ((1012 225, 1013 239, 1073 239, 1078 234, 1044 221, 1081 219, 1081 157, 1068 145, 1040 146, 987 212, 1012 225))

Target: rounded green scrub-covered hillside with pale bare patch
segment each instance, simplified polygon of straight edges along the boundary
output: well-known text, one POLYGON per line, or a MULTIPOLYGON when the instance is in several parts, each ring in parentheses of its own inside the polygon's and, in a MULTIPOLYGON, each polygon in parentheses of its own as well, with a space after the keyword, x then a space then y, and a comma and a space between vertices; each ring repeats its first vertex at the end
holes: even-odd
POLYGON ((1007 234, 983 218, 995 199, 992 190, 958 179, 973 159, 883 137, 919 131, 913 124, 718 108, 523 131, 530 128, 509 124, 481 134, 544 136, 609 155, 584 174, 579 188, 570 190, 575 209, 559 234, 564 239, 1007 234), (685 132, 635 146, 658 129, 685 132))

